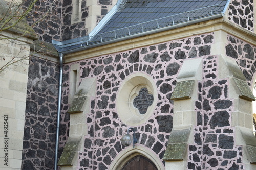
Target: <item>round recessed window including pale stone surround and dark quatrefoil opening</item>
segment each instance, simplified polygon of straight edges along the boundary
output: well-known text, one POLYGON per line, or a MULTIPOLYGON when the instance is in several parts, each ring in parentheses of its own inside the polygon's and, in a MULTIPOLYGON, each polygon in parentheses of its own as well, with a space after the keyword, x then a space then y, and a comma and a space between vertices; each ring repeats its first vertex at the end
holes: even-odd
POLYGON ((154 80, 141 72, 132 74, 124 79, 118 90, 118 115, 126 125, 143 124, 153 114, 156 99, 154 80))

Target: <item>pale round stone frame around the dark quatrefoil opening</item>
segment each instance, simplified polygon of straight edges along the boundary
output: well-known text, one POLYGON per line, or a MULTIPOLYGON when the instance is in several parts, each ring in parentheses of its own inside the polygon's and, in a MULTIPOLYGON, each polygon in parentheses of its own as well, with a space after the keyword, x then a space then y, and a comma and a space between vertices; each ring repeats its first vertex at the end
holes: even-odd
POLYGON ((157 104, 157 87, 152 77, 137 72, 127 76, 118 89, 116 108, 122 122, 129 126, 139 126, 152 116, 157 104), (133 100, 139 94, 141 88, 146 87, 148 93, 153 95, 153 103, 147 108, 145 114, 140 114, 133 105, 133 100))

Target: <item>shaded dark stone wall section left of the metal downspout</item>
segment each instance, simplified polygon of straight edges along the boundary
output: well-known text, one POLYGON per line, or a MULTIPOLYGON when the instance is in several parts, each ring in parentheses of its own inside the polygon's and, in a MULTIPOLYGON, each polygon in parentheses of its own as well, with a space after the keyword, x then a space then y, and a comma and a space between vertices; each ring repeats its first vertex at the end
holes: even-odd
MULTIPOLYGON (((53 169, 54 167, 58 80, 58 64, 35 57, 31 58, 22 169, 41 169, 42 167, 53 169)), ((63 121, 68 124, 69 118, 63 121)), ((60 126, 61 136, 67 136, 67 124, 60 126)))

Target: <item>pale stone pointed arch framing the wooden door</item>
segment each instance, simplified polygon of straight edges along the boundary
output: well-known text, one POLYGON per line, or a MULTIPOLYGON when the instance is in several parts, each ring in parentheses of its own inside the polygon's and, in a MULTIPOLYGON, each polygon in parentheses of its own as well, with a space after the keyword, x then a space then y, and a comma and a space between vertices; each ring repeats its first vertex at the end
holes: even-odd
POLYGON ((150 159, 157 167, 157 169, 165 169, 162 161, 147 148, 136 146, 136 148, 129 147, 125 148, 121 153, 119 153, 116 158, 113 160, 110 169, 112 170, 121 170, 127 161, 137 155, 142 155, 150 159))

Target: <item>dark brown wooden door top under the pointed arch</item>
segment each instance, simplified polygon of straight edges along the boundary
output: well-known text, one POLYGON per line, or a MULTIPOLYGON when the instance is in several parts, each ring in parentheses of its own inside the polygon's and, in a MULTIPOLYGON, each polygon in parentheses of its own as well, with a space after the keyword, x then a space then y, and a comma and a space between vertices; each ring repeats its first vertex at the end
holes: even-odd
POLYGON ((137 155, 127 161, 122 170, 157 170, 157 168, 150 159, 137 155))

